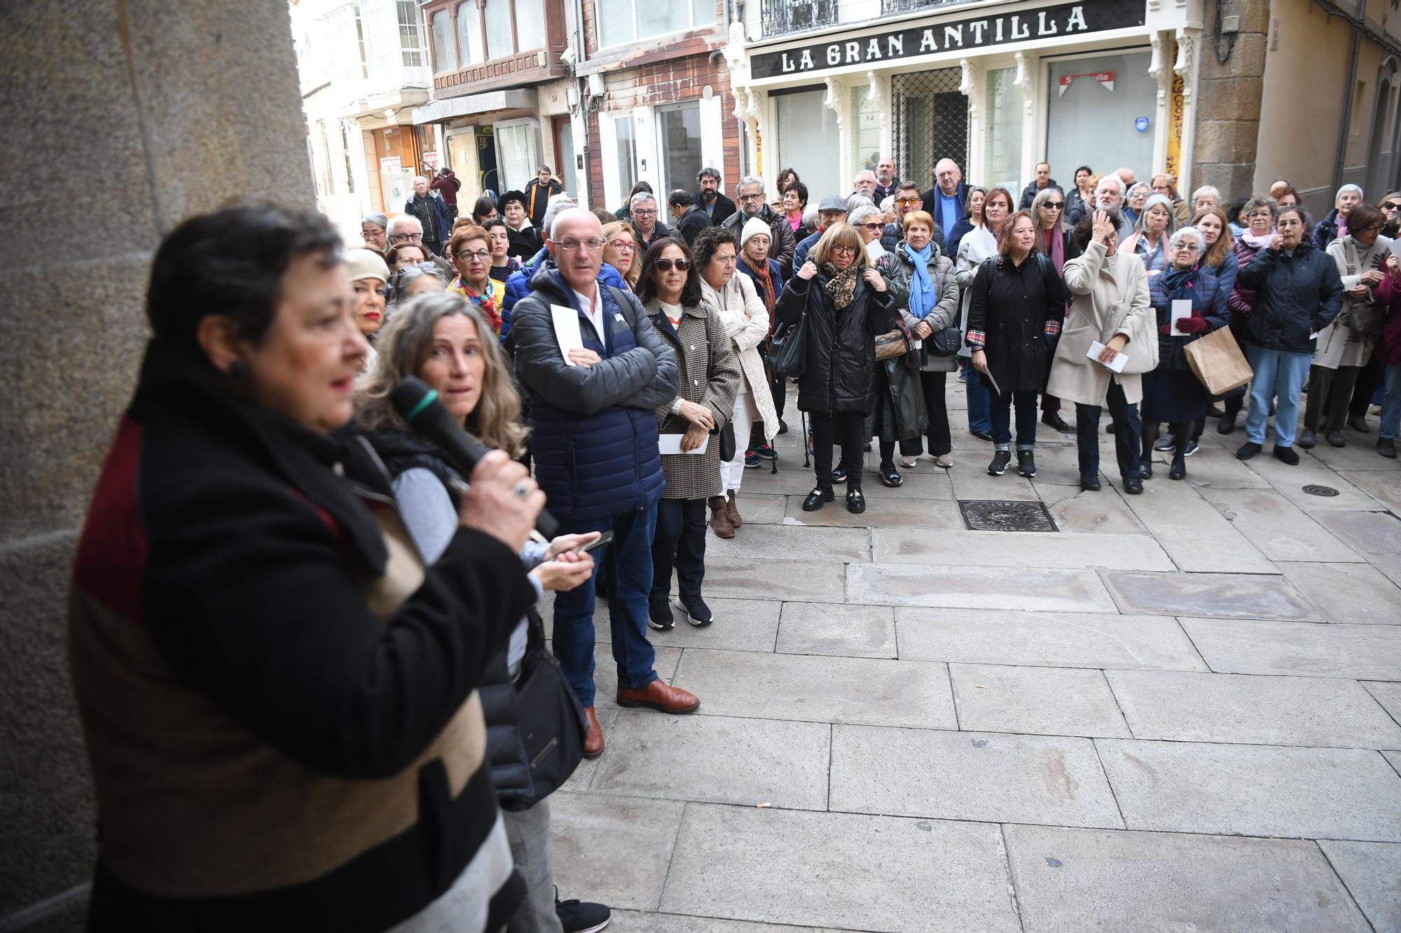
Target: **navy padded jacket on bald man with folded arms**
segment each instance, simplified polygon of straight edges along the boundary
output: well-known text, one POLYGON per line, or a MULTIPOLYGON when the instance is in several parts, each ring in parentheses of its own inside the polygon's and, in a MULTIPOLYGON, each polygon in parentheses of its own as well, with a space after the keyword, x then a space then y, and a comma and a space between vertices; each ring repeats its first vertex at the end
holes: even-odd
POLYGON ((636 297, 600 286, 607 342, 579 310, 579 298, 548 263, 514 308, 516 373, 530 392, 535 481, 563 523, 654 506, 665 493, 657 450, 657 406, 677 396, 677 354, 636 297), (551 305, 579 315, 584 346, 602 357, 567 366, 551 305))

